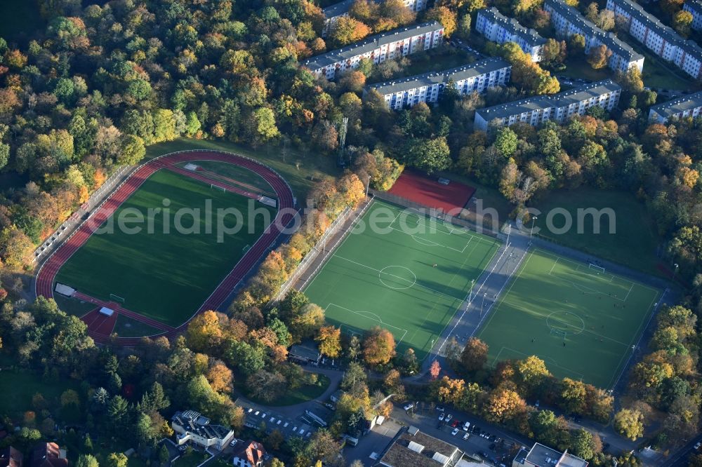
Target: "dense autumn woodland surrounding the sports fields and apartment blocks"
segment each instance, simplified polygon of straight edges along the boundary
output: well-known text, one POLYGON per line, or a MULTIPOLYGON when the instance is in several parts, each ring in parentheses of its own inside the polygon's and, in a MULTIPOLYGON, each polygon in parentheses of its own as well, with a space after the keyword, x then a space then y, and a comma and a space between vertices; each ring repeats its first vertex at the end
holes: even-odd
MULTIPOLYGON (((80 390, 66 391, 60 402, 38 393, 20 416, 6 414, 4 425, 22 429, 0 443, 27 449, 53 436, 53 422, 65 422, 65 412, 79 413, 93 435, 140 447, 171 435, 164 417, 185 408, 241 430, 234 386, 265 401, 315 384, 314 376, 286 361, 289 345, 302 339, 316 339, 326 356, 345 359, 349 368, 346 394, 328 431, 317 432, 309 443, 283 440, 276 431, 258 433, 289 465, 343 463, 336 456, 338 435, 357 433, 374 412, 388 413, 391 405, 376 404, 388 393, 398 400, 416 393, 453 404, 555 447, 569 447, 597 465, 607 460, 602 442, 587 431, 569 431, 559 414, 612 420, 631 439, 640 439, 655 421, 653 442, 663 448, 679 433, 698 430, 702 122, 649 125, 648 107, 657 96, 644 89, 637 73, 616 76, 625 92, 611 114, 590 109, 563 126, 473 132, 479 107, 557 92, 549 70, 578 53, 578 38, 550 41, 542 66, 513 44, 488 44, 486 50, 514 65, 508 88, 466 97, 449 89, 437 107, 418 104, 395 113, 377 93, 362 90, 366 79, 394 76, 411 57, 379 66, 366 62, 336 82, 315 79, 298 60, 418 20, 437 19, 448 36, 466 37, 471 15, 486 6, 484 0, 438 0, 418 14, 396 0, 380 5, 358 0, 326 41, 319 36, 321 10, 306 0, 39 4, 48 20, 45 32, 21 46, 0 39, 0 176, 27 181, 0 187, 0 342, 16 367, 46 381, 77 381, 80 390), (349 119, 351 170, 312 189, 310 198, 322 215, 306 217, 300 233, 267 257, 227 313, 203 313, 184 336, 145 340, 124 353, 95 346, 84 323, 54 302, 21 299, 21 276, 32 268, 35 245, 118 165, 138 163, 148 145, 185 136, 254 148, 291 144, 336 158, 343 117, 349 119), (515 215, 534 196, 558 188, 621 189, 646 203, 665 241, 664 261, 680 265, 675 279, 683 303, 659 314, 650 353, 635 365, 617 410, 602 389, 557 380, 538 358, 487 368, 487 349, 477 340, 463 349, 449 346, 450 377, 435 365, 428 376, 432 384, 406 385, 402 377, 416 372, 418 363, 411 351, 396 355, 387 330, 344 339, 338 328, 325 325, 322 309, 298 292, 269 306, 329 223, 362 201, 362 180, 370 175, 372 187, 388 189, 406 165, 449 170, 496 187, 515 215), (369 379, 368 369, 375 377, 369 379), (558 414, 534 412, 529 404, 535 400, 558 414)), ((496 6, 550 36, 540 1, 501 0, 496 6)), ((602 25, 616 27, 596 8, 581 8, 602 25)), ((680 5, 670 8, 671 18, 678 18, 680 5)), ((606 56, 599 50, 588 62, 602 68, 606 56)), ((85 435, 66 437, 84 454, 81 467, 94 467, 93 454, 114 467, 126 462, 117 454, 94 453, 85 435)), ((702 459, 696 462, 702 465, 702 459)))

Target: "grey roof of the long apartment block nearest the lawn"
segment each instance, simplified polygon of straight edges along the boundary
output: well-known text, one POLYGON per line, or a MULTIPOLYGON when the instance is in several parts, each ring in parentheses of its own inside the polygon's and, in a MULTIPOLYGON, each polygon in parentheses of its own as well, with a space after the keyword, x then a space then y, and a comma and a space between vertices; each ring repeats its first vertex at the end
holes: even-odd
POLYGON ((621 86, 611 79, 605 79, 604 81, 585 84, 585 86, 578 86, 577 88, 569 89, 558 94, 538 95, 529 97, 528 99, 477 109, 476 113, 485 121, 504 119, 512 115, 523 114, 524 112, 531 112, 534 110, 549 109, 551 107, 567 107, 575 102, 582 102, 592 97, 599 97, 618 90, 621 90, 621 86))

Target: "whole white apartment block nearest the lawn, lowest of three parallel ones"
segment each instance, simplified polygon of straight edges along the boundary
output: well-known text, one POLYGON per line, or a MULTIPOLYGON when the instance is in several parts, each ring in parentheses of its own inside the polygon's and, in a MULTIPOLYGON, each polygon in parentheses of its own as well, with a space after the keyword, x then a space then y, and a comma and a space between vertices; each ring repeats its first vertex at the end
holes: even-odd
POLYGON ((564 123, 572 116, 584 115, 590 107, 611 110, 619 102, 620 95, 621 86, 611 79, 597 81, 558 94, 478 109, 473 128, 487 131, 490 127, 511 126, 518 122, 539 126, 548 120, 564 123))

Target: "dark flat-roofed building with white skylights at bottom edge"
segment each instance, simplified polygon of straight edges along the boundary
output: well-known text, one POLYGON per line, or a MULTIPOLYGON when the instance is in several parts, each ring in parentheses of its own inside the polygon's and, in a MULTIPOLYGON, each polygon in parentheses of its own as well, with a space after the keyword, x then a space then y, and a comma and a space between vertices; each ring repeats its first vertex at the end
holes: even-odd
POLYGON ((413 426, 402 427, 388 447, 380 453, 379 466, 446 467, 456 466, 463 452, 448 442, 422 433, 413 426))

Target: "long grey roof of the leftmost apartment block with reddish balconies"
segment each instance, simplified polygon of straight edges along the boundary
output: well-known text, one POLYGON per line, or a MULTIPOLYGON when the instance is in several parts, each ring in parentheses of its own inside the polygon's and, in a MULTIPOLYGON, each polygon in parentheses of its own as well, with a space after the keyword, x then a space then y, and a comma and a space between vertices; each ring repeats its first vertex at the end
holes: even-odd
POLYGON ((363 41, 352 43, 349 46, 331 50, 327 53, 323 53, 322 55, 310 57, 303 62, 303 65, 310 69, 323 68, 328 65, 332 65, 333 63, 340 62, 341 60, 348 60, 357 55, 369 53, 371 50, 375 50, 386 43, 403 41, 404 39, 409 39, 410 37, 418 36, 419 34, 426 34, 428 32, 437 31, 438 29, 443 28, 444 27, 440 22, 430 21, 423 22, 419 25, 393 29, 392 31, 383 32, 383 34, 376 34, 375 36, 366 37, 366 39, 363 41))

